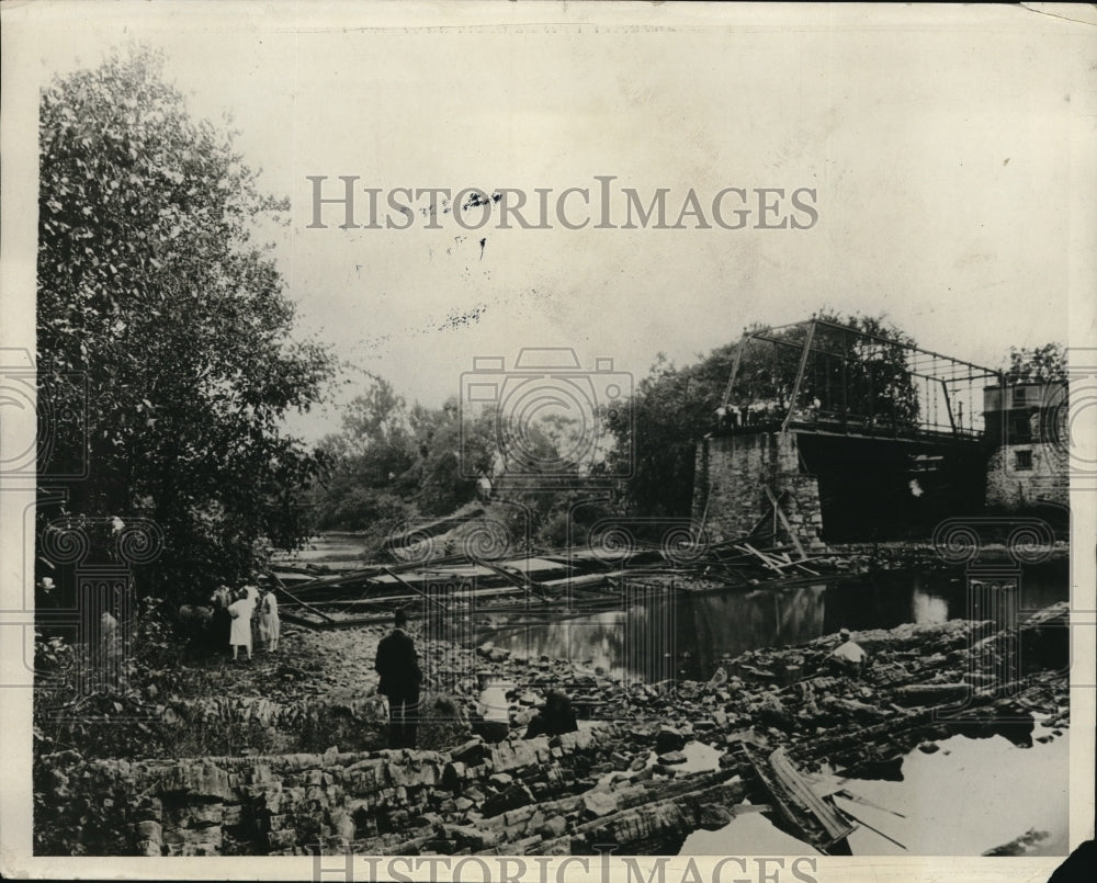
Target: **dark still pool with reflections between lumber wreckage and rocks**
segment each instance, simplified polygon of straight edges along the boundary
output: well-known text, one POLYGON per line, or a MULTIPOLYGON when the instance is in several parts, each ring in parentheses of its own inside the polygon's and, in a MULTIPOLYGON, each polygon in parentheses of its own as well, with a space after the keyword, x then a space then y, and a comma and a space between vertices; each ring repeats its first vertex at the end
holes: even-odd
MULTIPOLYGON (((1068 593, 1066 562, 1026 569, 1019 607, 1039 609, 1068 593)), ((617 610, 491 630, 514 653, 567 658, 626 681, 708 679, 723 657, 802 644, 841 627, 893 629, 968 613, 962 571, 889 570, 785 590, 710 593, 632 587, 617 610)))

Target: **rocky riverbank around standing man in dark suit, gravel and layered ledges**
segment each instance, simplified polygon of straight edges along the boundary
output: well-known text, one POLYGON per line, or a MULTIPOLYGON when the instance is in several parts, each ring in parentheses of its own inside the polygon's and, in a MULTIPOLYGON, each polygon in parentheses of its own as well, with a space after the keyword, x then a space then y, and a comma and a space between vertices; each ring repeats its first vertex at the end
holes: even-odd
POLYGON ((1019 744, 1063 734, 1065 616, 1059 604, 996 634, 966 621, 855 633, 872 658, 858 677, 827 670, 837 635, 744 654, 726 679, 663 684, 623 683, 490 645, 439 643, 425 661, 448 689, 428 693, 416 751, 381 748, 383 716, 371 693, 383 629, 287 630, 276 658, 195 665, 202 677, 194 682, 219 680, 223 699, 177 695, 145 724, 185 734, 212 702, 220 727, 247 720, 268 744, 190 759, 161 748, 160 757, 139 759, 58 750, 43 739, 36 849, 583 853, 614 842, 624 852, 674 852, 690 831, 725 825, 748 795, 734 750, 743 739, 785 747, 808 772, 826 765, 886 777, 915 746, 931 750, 957 732, 1002 733, 1019 744), (470 738, 464 722, 474 675, 485 670, 514 684, 512 733, 499 745, 470 738), (522 739, 552 688, 573 698, 579 733, 522 739), (303 728, 303 720, 313 726, 303 728), (303 752, 303 729, 328 744, 303 752), (706 746, 712 762, 685 772, 693 745, 706 746))

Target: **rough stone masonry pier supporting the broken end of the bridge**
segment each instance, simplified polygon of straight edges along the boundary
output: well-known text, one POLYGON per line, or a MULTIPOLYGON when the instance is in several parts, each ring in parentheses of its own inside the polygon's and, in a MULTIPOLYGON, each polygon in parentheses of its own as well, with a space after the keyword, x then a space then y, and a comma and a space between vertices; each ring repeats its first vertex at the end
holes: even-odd
POLYGON ((697 448, 693 520, 704 521, 714 541, 742 536, 770 512, 765 487, 805 547, 822 546, 818 480, 800 472, 796 439, 790 432, 758 432, 702 439, 697 448))

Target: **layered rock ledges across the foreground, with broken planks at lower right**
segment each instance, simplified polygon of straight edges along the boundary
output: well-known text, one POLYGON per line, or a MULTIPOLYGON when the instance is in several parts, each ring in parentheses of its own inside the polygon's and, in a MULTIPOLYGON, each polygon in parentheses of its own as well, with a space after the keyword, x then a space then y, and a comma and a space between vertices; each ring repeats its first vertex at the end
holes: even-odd
MULTIPOLYGON (((872 665, 841 677, 827 669, 837 635, 744 654, 727 661, 726 681, 661 686, 622 684, 580 675, 565 660, 496 655, 494 647, 440 648, 455 671, 486 667, 518 684, 508 693, 509 738, 455 740, 434 751, 335 747, 146 760, 46 755, 36 765, 36 800, 41 817, 56 819, 56 828, 43 827, 41 847, 58 849, 64 841, 64 852, 76 844, 158 856, 320 848, 590 854, 614 842, 623 853, 666 853, 699 828, 758 811, 740 806, 753 793, 795 836, 836 851, 850 824, 844 816, 852 819, 858 811, 835 801, 845 800, 841 778, 816 781, 824 765, 838 777, 863 776, 958 732, 1031 740, 1033 714, 1062 732, 1068 722, 1063 671, 1038 668, 1006 682, 1002 673, 1009 668, 1000 661, 1033 630, 1065 639, 1056 623, 1066 615, 1067 605, 1056 604, 995 634, 968 621, 855 633, 872 665), (780 682, 778 673, 789 668, 795 676, 780 682), (970 689, 959 703, 952 690, 901 692, 937 682, 970 689), (576 733, 522 739, 531 710, 551 689, 598 720, 580 721, 576 733), (915 697, 920 704, 913 704, 915 697), (1003 716, 1007 722, 999 724, 1003 716), (753 763, 744 740, 757 745, 748 749, 758 755, 753 763), (693 744, 712 751, 709 769, 681 762, 693 744), (758 779, 766 779, 760 792, 758 779)), ((475 681, 456 677, 454 684, 457 705, 473 701, 475 681)), ((271 726, 283 720, 276 703, 252 714, 271 726)), ((1044 732, 1054 737, 1052 727, 1044 732)))

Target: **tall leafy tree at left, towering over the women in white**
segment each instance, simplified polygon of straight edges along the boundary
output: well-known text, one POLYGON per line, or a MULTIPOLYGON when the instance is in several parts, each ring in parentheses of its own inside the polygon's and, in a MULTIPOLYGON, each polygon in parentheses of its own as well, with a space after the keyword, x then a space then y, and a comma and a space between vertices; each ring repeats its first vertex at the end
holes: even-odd
POLYGON ((47 86, 39 147, 39 400, 79 407, 66 377, 88 384, 84 424, 52 427, 56 456, 89 457, 67 508, 152 519, 181 593, 246 577, 264 542, 304 536, 323 457, 281 423, 333 374, 292 340, 272 247, 252 241, 287 203, 139 48, 47 86))

